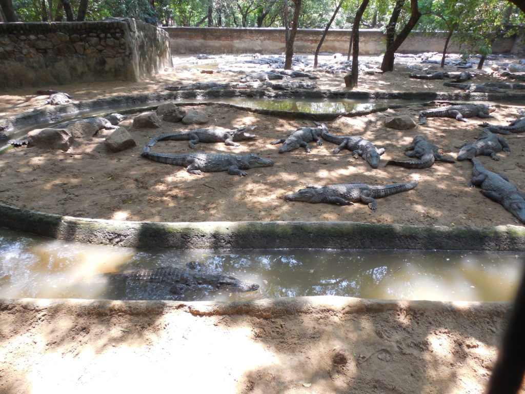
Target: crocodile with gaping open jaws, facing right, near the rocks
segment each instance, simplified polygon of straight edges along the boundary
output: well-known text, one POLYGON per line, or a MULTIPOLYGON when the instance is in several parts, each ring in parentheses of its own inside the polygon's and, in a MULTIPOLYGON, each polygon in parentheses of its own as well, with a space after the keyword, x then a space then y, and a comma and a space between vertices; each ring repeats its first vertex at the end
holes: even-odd
MULTIPOLYGON (((224 142, 227 146, 238 147, 239 144, 234 141, 251 140, 257 138, 255 134, 249 134, 247 131, 255 129, 256 126, 240 127, 238 129, 197 129, 182 131, 179 133, 161 134, 153 138, 148 146, 153 146, 152 142, 157 141, 182 141, 188 140, 190 148, 195 149, 195 144, 199 142, 224 142)), ((154 143, 153 142, 153 143, 154 143)))

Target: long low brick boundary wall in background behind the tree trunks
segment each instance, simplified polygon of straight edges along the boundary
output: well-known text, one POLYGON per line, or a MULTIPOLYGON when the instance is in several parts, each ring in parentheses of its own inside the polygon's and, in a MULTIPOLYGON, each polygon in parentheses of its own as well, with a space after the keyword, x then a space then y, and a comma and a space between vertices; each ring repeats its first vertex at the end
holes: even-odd
MULTIPOLYGON (((261 53, 281 54, 285 50, 285 33, 282 28, 225 28, 225 27, 164 27, 170 35, 172 54, 224 54, 261 53)), ((323 29, 298 29, 296 53, 313 54, 323 29)), ((350 30, 332 29, 324 40, 321 52, 348 53, 350 30)), ((508 53, 514 38, 499 39, 493 53, 508 53)), ((359 32, 360 53, 381 54, 385 50, 385 36, 378 29, 359 32)), ((443 51, 444 34, 411 34, 398 50, 399 53, 443 51)), ((449 53, 457 53, 458 45, 451 43, 449 53)))

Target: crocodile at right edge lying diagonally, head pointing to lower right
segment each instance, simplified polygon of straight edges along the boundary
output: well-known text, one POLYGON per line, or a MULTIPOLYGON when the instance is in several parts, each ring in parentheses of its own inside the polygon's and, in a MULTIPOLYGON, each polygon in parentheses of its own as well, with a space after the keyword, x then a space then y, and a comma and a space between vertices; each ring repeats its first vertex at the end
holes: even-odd
POLYGON ((479 186, 481 193, 525 223, 525 193, 519 191, 504 175, 487 170, 478 159, 470 158, 472 178, 470 186, 479 186))

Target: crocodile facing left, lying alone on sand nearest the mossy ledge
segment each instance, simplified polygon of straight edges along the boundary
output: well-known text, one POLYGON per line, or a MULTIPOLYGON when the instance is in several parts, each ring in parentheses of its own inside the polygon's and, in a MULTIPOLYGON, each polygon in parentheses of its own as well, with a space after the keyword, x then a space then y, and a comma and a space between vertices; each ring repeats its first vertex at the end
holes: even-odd
POLYGON ((360 182, 349 182, 337 185, 316 186, 307 185, 295 193, 285 195, 286 201, 303 201, 310 203, 329 203, 353 205, 354 202, 368 204, 371 210, 377 208, 374 199, 379 199, 395 193, 412 190, 417 180, 408 183, 371 186, 360 182))

